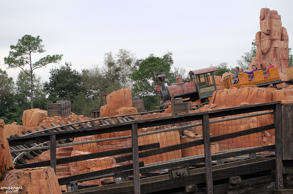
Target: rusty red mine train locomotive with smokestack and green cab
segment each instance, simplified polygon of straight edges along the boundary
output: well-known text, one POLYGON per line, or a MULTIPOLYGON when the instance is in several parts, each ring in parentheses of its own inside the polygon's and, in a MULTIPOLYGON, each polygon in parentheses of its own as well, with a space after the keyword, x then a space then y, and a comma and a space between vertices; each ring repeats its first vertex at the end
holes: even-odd
MULTIPOLYGON (((168 103, 171 100, 172 93, 174 98, 182 98, 183 102, 201 100, 202 103, 209 102, 209 97, 212 97, 214 91, 217 90, 214 71, 217 71, 216 67, 208 67, 198 69, 189 72, 190 81, 184 83, 182 77, 176 78, 176 84, 165 86, 166 75, 160 74, 157 76, 161 81, 161 87, 156 85, 156 91, 161 95, 160 106, 164 106, 164 103, 168 103)), ((165 103, 165 104, 166 104, 165 103)), ((166 106, 165 106, 166 107, 166 106)))

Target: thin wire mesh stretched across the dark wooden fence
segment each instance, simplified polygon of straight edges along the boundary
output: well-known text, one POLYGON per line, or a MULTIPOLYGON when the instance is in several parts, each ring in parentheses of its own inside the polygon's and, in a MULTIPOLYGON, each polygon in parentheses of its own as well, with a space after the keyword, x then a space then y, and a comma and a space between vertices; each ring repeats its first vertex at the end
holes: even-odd
POLYGON ((85 122, 91 128, 55 134, 56 153, 50 152, 52 141, 37 143, 44 144, 42 153, 30 165, 52 166, 55 161, 60 189, 67 193, 182 191, 195 184, 211 189, 213 181, 274 172, 275 112, 272 106, 259 107, 113 126, 85 122), (60 141, 64 137, 71 142, 60 141))

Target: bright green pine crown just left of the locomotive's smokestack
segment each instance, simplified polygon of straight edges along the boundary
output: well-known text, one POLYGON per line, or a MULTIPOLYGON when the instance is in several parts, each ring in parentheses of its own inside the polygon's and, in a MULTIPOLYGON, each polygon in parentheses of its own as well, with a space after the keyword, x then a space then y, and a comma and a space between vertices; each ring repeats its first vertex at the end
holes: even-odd
POLYGON ((133 91, 137 95, 143 96, 156 94, 155 85, 160 82, 157 78, 160 74, 166 75, 165 83, 167 85, 175 83, 170 63, 166 63, 160 57, 155 56, 142 60, 138 65, 138 70, 131 74, 134 81, 133 91))

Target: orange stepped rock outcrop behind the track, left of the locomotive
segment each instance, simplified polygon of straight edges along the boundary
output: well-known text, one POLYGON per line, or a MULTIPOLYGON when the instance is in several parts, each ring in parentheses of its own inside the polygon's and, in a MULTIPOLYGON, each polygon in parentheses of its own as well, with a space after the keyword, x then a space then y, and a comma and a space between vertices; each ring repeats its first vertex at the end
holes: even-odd
POLYGON ((107 104, 100 109, 100 116, 115 116, 138 113, 132 107, 132 95, 129 88, 117 90, 106 97, 107 104))

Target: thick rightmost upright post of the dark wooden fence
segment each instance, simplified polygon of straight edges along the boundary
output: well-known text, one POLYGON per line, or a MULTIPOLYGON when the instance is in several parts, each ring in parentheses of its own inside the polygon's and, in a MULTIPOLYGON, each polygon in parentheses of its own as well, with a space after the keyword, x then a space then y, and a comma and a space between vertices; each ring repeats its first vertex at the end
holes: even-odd
POLYGON ((276 155, 276 189, 283 188, 283 149, 282 149, 282 106, 275 105, 275 155, 276 155))

